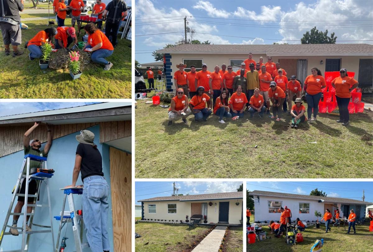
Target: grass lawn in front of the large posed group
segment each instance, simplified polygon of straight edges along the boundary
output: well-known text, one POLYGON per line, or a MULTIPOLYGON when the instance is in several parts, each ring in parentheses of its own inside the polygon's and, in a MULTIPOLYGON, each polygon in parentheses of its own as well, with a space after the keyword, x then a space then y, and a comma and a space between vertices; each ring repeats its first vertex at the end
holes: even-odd
MULTIPOLYGON (((307 111, 307 103, 304 103, 307 111)), ((265 116, 220 124, 187 118, 167 126, 168 109, 139 101, 135 110, 136 178, 372 178, 373 111, 339 117, 319 114, 290 128, 291 117, 265 116), (316 143, 315 143, 316 142, 316 143), (255 147, 257 146, 257 148, 255 147), (347 168, 347 169, 343 169, 347 168)))

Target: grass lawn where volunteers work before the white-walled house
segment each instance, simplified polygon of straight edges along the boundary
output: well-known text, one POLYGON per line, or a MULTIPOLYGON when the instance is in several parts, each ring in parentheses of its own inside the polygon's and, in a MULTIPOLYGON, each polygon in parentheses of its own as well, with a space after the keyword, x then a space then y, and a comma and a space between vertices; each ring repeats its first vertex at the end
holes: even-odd
MULTIPOLYGON (((372 239, 373 233, 369 232, 369 226, 355 226, 356 233, 353 235, 353 231, 350 235, 346 234, 343 227, 332 227, 332 231, 325 233, 325 225, 321 224, 320 228, 317 229, 314 226, 310 226, 305 229, 303 234, 303 242, 296 243, 295 245, 288 245, 285 242, 285 236, 276 238, 274 234, 270 234, 270 229, 267 226, 263 226, 263 231, 267 232, 267 236, 271 239, 263 241, 256 240, 255 243, 247 243, 247 252, 260 252, 260 251, 294 251, 303 252, 310 251, 314 242, 322 238, 324 239, 323 252, 336 252, 336 251, 354 251, 354 252, 368 252, 373 251, 372 239)), ((352 230, 352 229, 351 229, 352 230)), ((246 239, 247 242, 247 239, 246 239)))

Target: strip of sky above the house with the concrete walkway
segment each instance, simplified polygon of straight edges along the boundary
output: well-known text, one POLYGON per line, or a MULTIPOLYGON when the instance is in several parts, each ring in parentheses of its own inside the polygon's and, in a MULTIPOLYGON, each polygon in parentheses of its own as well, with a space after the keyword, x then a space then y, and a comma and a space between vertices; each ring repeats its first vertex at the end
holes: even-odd
MULTIPOLYGON (((178 194, 209 194, 219 192, 236 192, 242 182, 236 181, 162 181, 162 182, 135 182, 135 203, 154 197, 171 196, 173 194, 173 182, 179 189, 178 194)), ((175 192, 176 193, 176 192, 175 192)))

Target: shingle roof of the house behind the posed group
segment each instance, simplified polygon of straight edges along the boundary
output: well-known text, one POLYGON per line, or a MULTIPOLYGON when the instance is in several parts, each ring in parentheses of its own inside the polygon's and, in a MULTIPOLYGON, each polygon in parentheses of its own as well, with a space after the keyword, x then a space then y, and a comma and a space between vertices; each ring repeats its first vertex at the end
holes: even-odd
POLYGON ((299 45, 192 45, 183 44, 157 50, 159 53, 193 54, 266 54, 277 55, 373 55, 370 44, 299 44, 299 45))

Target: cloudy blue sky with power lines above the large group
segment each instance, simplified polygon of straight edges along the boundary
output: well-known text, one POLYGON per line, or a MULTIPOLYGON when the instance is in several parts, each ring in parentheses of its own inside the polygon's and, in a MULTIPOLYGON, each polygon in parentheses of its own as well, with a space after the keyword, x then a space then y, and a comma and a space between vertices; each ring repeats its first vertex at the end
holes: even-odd
POLYGON ((300 38, 313 26, 320 31, 327 29, 328 35, 335 32, 337 43, 373 43, 352 41, 373 40, 373 1, 370 0, 136 0, 135 3, 135 59, 140 63, 153 62, 152 51, 184 38, 184 16, 189 19, 188 27, 197 32, 193 39, 213 44, 300 44, 300 38), (139 36, 159 33, 169 34, 139 36))

